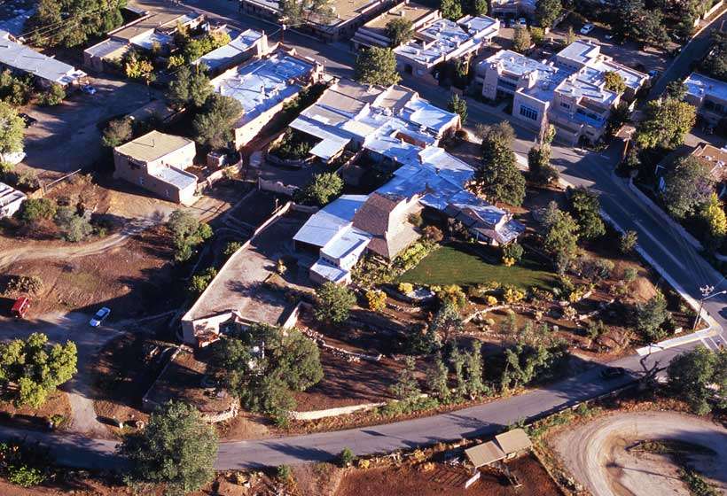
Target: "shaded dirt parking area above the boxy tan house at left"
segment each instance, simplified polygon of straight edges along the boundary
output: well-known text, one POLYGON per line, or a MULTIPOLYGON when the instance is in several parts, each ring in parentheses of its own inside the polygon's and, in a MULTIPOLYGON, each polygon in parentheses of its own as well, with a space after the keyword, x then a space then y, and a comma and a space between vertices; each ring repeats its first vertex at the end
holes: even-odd
POLYGON ((149 101, 149 90, 136 82, 105 77, 91 78, 90 82, 97 89, 95 95, 78 91, 62 105, 24 109, 37 122, 26 129, 27 157, 22 163, 42 177, 66 174, 95 163, 102 156, 101 133, 106 122, 149 101))

